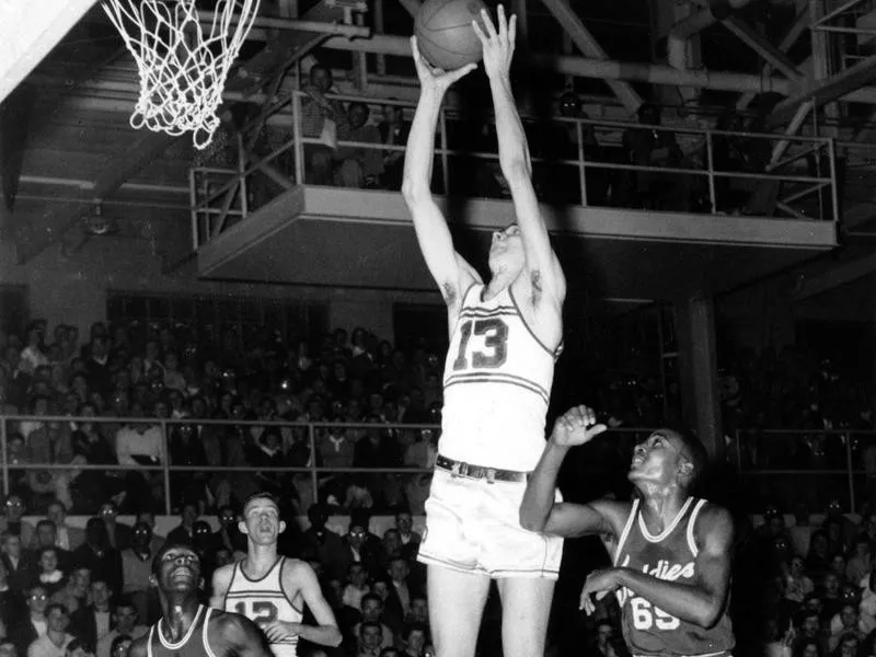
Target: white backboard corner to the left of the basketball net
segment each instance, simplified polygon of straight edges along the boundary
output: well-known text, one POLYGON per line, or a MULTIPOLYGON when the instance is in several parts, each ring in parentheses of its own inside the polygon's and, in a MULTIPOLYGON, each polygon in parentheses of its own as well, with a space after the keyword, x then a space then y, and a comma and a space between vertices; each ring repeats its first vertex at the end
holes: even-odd
POLYGON ((95 0, 0 2, 0 101, 43 61, 95 0))

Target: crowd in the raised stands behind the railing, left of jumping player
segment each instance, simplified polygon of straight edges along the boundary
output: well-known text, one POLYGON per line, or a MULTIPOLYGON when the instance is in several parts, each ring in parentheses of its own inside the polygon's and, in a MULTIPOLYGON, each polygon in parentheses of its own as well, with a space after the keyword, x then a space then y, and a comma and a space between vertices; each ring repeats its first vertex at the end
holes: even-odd
MULTIPOLYGON (((204 512, 269 489, 304 514, 314 493, 308 465, 431 463, 435 431, 384 426, 439 423, 440 366, 425 345, 405 353, 362 328, 293 341, 291 347, 266 333, 242 344, 232 330, 216 349, 183 344, 169 327, 140 342, 131 336, 129 326, 95 323, 80 345, 74 327, 61 325, 49 335, 41 320, 24 341, 0 335, 2 411, 80 418, 5 427, 10 489, 31 508, 58 498, 76 512, 93 512, 108 494, 124 512, 168 505, 178 510, 186 502, 204 512), (318 428, 312 453, 306 426, 280 424, 293 422, 350 426, 318 428), (192 469, 172 474, 170 500, 165 462, 192 469), (71 468, 22 468, 27 463, 71 468), (253 471, 212 470, 220 466, 253 471), (302 470, 269 470, 284 468, 302 470)), ((424 474, 342 471, 322 475, 319 488, 334 509, 422 512, 428 482, 424 474)))

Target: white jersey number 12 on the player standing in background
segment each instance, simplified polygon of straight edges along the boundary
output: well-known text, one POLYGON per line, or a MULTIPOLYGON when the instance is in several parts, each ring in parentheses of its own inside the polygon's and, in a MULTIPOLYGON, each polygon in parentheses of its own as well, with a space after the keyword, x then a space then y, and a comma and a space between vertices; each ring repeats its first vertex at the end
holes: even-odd
MULTIPOLYGON (((262 626, 274 621, 300 623, 303 610, 296 607, 283 590, 283 566, 286 557, 280 556, 277 563, 261 579, 250 579, 243 572, 243 562, 234 564, 231 585, 226 592, 226 611, 234 611, 262 626)), ((298 596, 301 604, 300 596, 298 596)), ((270 644, 275 657, 296 657, 298 654, 298 636, 270 644)))

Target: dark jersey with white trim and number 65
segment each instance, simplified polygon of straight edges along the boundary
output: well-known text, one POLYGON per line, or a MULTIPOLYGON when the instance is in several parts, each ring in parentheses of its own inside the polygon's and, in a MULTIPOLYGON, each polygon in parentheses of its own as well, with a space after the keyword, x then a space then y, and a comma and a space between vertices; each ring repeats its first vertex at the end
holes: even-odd
MULTIPOLYGON (((618 542, 614 565, 646 573, 667 581, 696 576, 694 527, 704 499, 689 497, 676 519, 653 535, 633 502, 630 517, 618 542)), ((723 655, 734 647, 733 627, 725 609, 718 622, 705 630, 654 607, 622 587, 618 590, 623 636, 633 655, 706 656, 723 655)))

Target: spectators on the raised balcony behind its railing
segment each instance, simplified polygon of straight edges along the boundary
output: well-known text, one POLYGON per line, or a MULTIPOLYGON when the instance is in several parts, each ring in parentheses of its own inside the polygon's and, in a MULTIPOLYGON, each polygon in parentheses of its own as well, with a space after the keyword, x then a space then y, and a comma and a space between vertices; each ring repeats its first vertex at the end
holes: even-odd
MULTIPOLYGON (((314 65, 308 78, 301 110, 302 136, 316 139, 319 143, 309 143, 304 148, 307 182, 399 189, 403 151, 397 149, 406 145, 411 128, 403 105, 383 105, 383 115, 372 119, 368 104, 336 100, 337 90, 330 69, 314 65), (345 141, 360 146, 344 146, 345 141)), ((573 91, 560 97, 557 107, 562 118, 589 118, 573 91)), ((585 205, 713 211, 708 178, 684 173, 707 169, 710 147, 702 135, 687 136, 684 143, 680 145, 676 129, 662 126, 662 114, 659 105, 643 104, 636 116, 641 127, 623 129, 620 139, 616 125, 581 124, 579 131, 576 124, 557 122, 554 117, 525 117, 530 151, 535 159, 533 183, 539 197, 546 203, 583 204, 580 172, 577 163, 572 163, 583 154, 589 164, 585 176, 585 205), (608 166, 601 168, 599 163, 608 166), (675 171, 661 172, 660 169, 675 171)), ((726 112, 712 123, 717 130, 762 131, 758 117, 745 117, 733 112, 726 112)), ((691 127, 701 126, 691 124, 691 127)), ((484 153, 497 152, 495 126, 489 117, 466 114, 465 120, 449 119, 447 145, 452 153, 452 165, 447 176, 453 194, 510 197, 497 161, 483 157, 484 153)), ((777 182, 733 177, 734 173, 747 175, 765 171, 771 149, 772 142, 766 139, 741 135, 714 136, 711 145, 713 168, 728 174, 715 178, 715 211, 758 216, 771 216, 775 211, 777 182)), ((292 170, 290 165, 287 169, 292 170)), ((442 188, 443 175, 439 168, 435 180, 438 189, 442 188)))

